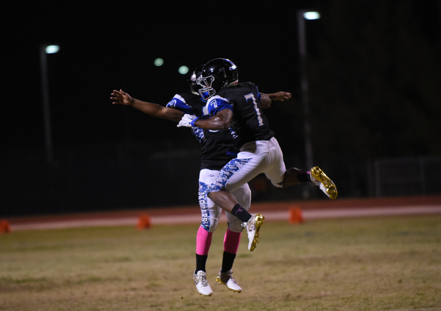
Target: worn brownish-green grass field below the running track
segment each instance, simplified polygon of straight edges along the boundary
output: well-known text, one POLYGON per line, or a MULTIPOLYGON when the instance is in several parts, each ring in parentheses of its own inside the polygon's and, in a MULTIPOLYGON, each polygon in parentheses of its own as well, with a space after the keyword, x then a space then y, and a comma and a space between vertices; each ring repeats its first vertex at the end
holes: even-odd
POLYGON ((240 244, 229 292, 214 282, 225 224, 192 282, 197 225, 0 235, 0 310, 441 310, 441 217, 267 222, 240 244))

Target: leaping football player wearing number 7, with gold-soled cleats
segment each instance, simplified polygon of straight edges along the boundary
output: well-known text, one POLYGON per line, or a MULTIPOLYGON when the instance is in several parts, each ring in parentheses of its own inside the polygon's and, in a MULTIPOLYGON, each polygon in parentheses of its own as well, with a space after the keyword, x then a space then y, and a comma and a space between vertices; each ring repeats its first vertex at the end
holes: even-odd
POLYGON ((185 114, 178 127, 200 127, 201 129, 230 129, 239 149, 238 157, 228 162, 214 183, 207 190, 208 197, 225 211, 238 217, 247 227, 249 250, 258 242, 263 215, 250 214, 231 194, 236 187, 265 173, 272 184, 278 187, 300 182, 314 182, 331 199, 337 197, 334 182, 318 167, 310 171, 296 168, 286 169, 283 153, 274 132, 268 125, 262 106, 269 98, 258 92, 253 83, 238 83, 236 65, 225 58, 216 58, 203 67, 198 78, 203 100, 207 100, 210 118, 196 118, 185 114))

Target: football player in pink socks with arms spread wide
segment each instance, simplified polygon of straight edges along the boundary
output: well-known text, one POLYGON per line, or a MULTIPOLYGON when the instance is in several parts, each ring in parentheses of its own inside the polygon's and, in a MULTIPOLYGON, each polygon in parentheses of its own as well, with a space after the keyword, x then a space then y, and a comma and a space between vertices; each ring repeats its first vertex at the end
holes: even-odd
MULTIPOLYGON (((114 90, 111 99, 114 100, 114 104, 132 105, 132 107, 143 111, 145 114, 174 120, 176 122, 181 120, 184 113, 203 117, 207 114, 204 112, 205 102, 201 100, 201 96, 198 93, 198 89, 200 89, 201 86, 196 84, 196 78, 201 75, 202 68, 203 65, 196 67, 190 76, 189 83, 192 92, 189 94, 176 94, 166 107, 137 100, 122 90, 114 90)), ((291 94, 287 92, 278 92, 268 95, 272 100, 280 101, 291 97, 291 94)), ((199 226, 196 235, 196 270, 194 271, 193 279, 198 292, 205 296, 210 296, 213 292, 207 282, 205 264, 212 242, 212 234, 214 230, 216 230, 222 209, 214 204, 212 200, 209 200, 207 197, 207 187, 214 182, 220 169, 222 169, 229 160, 236 158, 238 149, 228 129, 212 131, 193 127, 192 130, 194 136, 196 136, 201 143, 201 171, 199 173, 198 197, 202 215, 201 226, 199 226)), ((251 191, 247 183, 234 189, 232 195, 240 202, 241 206, 246 210, 249 209, 251 191)), ((222 268, 218 273, 216 281, 225 284, 225 286, 233 292, 241 292, 242 288, 238 286, 232 276, 232 266, 238 251, 243 223, 231 213, 226 212, 225 215, 227 217, 228 228, 224 237, 222 268)))

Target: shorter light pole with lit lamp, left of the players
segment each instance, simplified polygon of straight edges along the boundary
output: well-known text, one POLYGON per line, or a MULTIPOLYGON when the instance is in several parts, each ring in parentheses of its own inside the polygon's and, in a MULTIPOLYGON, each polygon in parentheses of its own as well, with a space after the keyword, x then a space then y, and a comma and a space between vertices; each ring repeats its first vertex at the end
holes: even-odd
POLYGON ((52 163, 52 129, 50 125, 50 107, 49 107, 49 83, 48 83, 48 56, 60 50, 58 45, 40 45, 40 64, 41 64, 41 93, 43 94, 43 122, 44 138, 46 147, 46 162, 52 163))

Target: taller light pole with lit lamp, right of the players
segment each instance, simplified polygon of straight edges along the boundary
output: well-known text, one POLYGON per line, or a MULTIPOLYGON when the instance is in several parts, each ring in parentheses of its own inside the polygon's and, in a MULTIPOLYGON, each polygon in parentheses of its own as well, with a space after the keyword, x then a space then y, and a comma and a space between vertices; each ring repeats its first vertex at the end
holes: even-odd
POLYGON ((300 60, 300 92, 303 107, 303 128, 305 131, 305 162, 306 167, 310 169, 314 163, 314 153, 312 151, 311 141, 311 122, 309 116, 309 95, 308 95, 308 81, 306 76, 306 28, 305 19, 320 19, 318 12, 311 12, 308 10, 297 11, 297 30, 298 30, 298 52, 300 60))

